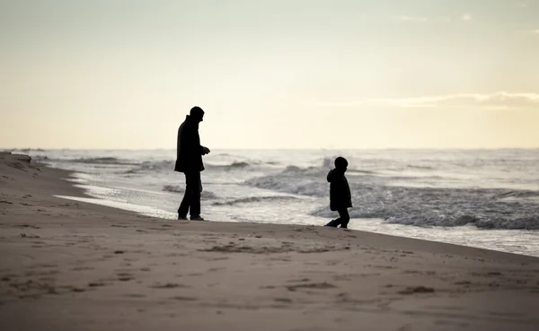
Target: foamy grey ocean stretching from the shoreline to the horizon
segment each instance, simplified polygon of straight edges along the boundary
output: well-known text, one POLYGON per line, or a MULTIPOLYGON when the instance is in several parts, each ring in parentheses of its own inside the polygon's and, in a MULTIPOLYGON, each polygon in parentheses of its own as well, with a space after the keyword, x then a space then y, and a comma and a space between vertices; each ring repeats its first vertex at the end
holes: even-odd
MULTIPOLYGON (((174 150, 19 150, 73 170, 93 198, 62 196, 176 219, 183 174, 174 150)), ((202 216, 216 222, 323 225, 326 174, 349 161, 350 229, 539 257, 539 150, 212 151, 202 216)), ((335 231, 340 231, 335 229, 335 231)))

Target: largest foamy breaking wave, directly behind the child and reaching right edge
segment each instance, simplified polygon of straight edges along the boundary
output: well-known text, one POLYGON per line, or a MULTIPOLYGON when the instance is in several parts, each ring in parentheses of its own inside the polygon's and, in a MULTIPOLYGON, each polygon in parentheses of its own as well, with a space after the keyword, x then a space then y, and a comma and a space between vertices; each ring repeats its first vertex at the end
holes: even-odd
MULTIPOLYGON (((289 166, 277 174, 249 179, 245 185, 281 193, 325 197, 329 184, 323 168, 289 166)), ((349 178, 355 218, 381 218, 385 222, 414 226, 463 226, 481 229, 539 230, 539 204, 529 199, 538 191, 499 188, 399 187, 394 178, 349 178), (515 199, 508 199, 514 197, 515 199)), ((311 214, 334 217, 329 201, 311 214)))

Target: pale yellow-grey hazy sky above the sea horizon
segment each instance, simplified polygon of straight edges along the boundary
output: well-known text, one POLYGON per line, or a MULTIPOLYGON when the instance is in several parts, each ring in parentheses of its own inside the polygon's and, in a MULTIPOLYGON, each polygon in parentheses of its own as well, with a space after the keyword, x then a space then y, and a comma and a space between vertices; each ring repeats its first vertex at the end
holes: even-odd
POLYGON ((539 148, 539 0, 0 0, 0 147, 539 148))

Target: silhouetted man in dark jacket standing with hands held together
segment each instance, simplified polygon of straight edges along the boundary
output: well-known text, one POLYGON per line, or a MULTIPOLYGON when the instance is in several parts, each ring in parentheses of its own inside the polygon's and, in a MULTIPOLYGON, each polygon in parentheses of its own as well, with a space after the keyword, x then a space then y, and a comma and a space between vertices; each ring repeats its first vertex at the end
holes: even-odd
POLYGON ((178 156, 174 171, 185 174, 186 184, 185 194, 178 208, 178 220, 187 220, 189 212, 191 221, 204 221, 200 217, 200 171, 204 170, 202 155, 208 154, 209 149, 200 145, 199 123, 203 118, 204 110, 193 107, 178 129, 178 156))

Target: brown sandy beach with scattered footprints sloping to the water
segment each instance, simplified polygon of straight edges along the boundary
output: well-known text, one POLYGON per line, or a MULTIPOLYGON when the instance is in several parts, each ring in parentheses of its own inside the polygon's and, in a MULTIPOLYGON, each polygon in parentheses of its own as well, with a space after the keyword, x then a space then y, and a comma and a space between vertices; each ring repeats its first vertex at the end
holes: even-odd
POLYGON ((536 257, 149 218, 53 196, 84 196, 68 177, 0 154, 2 330, 539 329, 536 257))

